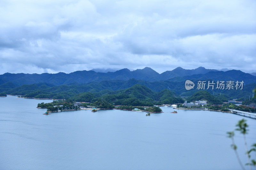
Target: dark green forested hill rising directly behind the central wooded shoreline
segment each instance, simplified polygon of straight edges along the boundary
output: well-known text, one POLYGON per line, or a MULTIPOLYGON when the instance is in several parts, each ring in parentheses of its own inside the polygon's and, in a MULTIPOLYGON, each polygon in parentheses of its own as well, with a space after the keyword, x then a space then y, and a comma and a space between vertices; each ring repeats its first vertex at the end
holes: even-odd
POLYGON ((102 92, 91 93, 84 92, 77 94, 70 98, 72 101, 81 102, 95 102, 97 100, 105 100, 116 105, 128 105, 128 106, 153 106, 153 104, 167 104, 167 103, 183 103, 184 100, 169 91, 163 90, 160 92, 153 92, 151 89, 144 85, 133 85, 130 88, 118 91, 105 91, 103 95, 99 95, 102 92))

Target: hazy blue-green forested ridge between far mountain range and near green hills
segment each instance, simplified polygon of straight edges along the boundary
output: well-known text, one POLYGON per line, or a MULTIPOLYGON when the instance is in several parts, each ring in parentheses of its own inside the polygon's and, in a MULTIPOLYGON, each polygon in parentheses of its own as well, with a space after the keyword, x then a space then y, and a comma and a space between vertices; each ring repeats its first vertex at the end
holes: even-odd
MULTIPOLYGON (((211 79, 206 80, 207 82, 212 82, 211 79)), ((195 88, 191 90, 185 89, 185 81, 183 82, 171 82, 171 81, 156 81, 156 82, 149 82, 144 80, 136 80, 130 79, 128 81, 124 80, 109 80, 109 81, 101 81, 101 82, 91 82, 87 84, 78 84, 73 83, 69 85, 60 85, 54 86, 48 83, 39 83, 39 84, 31 84, 31 85, 21 85, 19 87, 14 87, 12 83, 7 83, 10 85, 11 88, 1 88, 0 85, 0 92, 5 92, 6 94, 11 95, 22 95, 28 98, 51 98, 51 99, 63 99, 69 98, 73 95, 76 95, 81 92, 110 92, 110 91, 117 91, 117 90, 124 90, 127 88, 132 87, 133 85, 139 84, 144 85, 151 89, 154 92, 159 92, 167 87, 174 93, 175 96, 191 96, 194 93, 200 91, 196 88, 197 81, 194 81, 195 88), (62 96, 62 97, 61 97, 62 96)), ((214 81, 216 83, 216 81, 214 81)), ((216 89, 213 90, 209 88, 207 91, 211 94, 218 95, 218 94, 226 94, 227 99, 239 99, 239 98, 249 98, 252 95, 252 90, 255 88, 256 84, 248 84, 244 85, 243 89, 216 89)), ((207 86, 205 87, 206 90, 207 86)), ((223 95, 222 95, 223 96, 223 95)), ((223 98, 221 96, 221 98, 223 98)), ((225 100, 226 101, 226 100, 225 100)))

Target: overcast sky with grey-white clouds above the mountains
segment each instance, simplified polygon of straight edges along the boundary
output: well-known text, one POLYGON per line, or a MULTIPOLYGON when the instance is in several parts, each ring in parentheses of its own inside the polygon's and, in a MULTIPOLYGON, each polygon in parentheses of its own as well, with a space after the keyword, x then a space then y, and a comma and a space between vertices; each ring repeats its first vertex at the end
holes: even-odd
POLYGON ((1 0, 0 74, 256 72, 255 0, 1 0))

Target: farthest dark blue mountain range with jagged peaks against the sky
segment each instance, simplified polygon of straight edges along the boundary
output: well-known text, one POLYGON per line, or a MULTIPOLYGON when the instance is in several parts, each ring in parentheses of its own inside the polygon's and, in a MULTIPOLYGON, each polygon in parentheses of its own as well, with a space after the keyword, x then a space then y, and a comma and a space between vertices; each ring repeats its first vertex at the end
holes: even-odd
POLYGON ((205 80, 212 79, 215 81, 229 81, 238 80, 244 81, 245 84, 256 83, 256 77, 244 73, 240 70, 228 70, 218 71, 213 69, 205 69, 204 67, 198 67, 192 70, 186 70, 181 67, 177 67, 172 71, 165 71, 161 74, 155 70, 145 67, 144 69, 137 69, 130 71, 128 69, 117 70, 115 72, 95 72, 90 71, 75 71, 69 74, 59 72, 56 74, 43 73, 43 74, 12 74, 4 73, 0 75, 0 85, 5 83, 12 83, 16 87, 25 84, 34 83, 49 83, 52 85, 68 85, 72 83, 90 83, 101 82, 104 80, 129 80, 129 79, 145 80, 149 82, 168 80, 171 82, 183 82, 187 79, 190 80, 205 80))

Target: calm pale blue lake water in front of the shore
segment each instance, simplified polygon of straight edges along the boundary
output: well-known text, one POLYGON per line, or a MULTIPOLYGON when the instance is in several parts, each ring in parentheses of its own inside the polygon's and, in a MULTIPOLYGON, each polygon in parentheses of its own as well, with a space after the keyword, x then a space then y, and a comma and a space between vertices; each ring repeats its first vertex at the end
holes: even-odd
MULTIPOLYGON (((0 98, 0 169, 241 169, 226 132, 238 120, 249 124, 247 142, 256 143, 256 120, 230 113, 177 110, 65 111, 42 115, 35 100, 0 98)), ((236 144, 246 163, 243 137, 236 144)), ((248 169, 248 167, 247 167, 248 169)))

